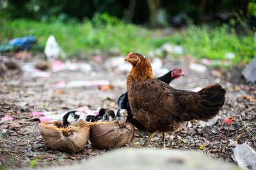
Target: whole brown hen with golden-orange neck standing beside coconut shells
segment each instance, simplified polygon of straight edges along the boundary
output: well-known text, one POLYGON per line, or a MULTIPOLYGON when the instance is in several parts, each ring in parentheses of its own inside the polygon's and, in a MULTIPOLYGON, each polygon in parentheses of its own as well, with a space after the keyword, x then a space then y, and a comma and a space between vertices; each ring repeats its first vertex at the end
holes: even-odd
POLYGON ((129 53, 125 61, 132 64, 127 76, 131 110, 150 132, 144 146, 160 131, 164 147, 166 132, 179 131, 189 120, 208 121, 218 115, 225 103, 226 90, 218 83, 199 92, 176 90, 154 78, 150 62, 143 55, 129 53))

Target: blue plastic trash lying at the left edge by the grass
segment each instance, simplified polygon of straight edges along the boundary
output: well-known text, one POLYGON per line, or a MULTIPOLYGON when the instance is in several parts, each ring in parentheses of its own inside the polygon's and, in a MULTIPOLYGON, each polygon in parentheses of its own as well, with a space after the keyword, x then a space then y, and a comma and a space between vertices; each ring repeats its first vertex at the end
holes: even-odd
POLYGON ((34 36, 24 36, 10 40, 7 45, 0 46, 0 52, 8 52, 10 50, 29 50, 35 45, 36 39, 34 36))

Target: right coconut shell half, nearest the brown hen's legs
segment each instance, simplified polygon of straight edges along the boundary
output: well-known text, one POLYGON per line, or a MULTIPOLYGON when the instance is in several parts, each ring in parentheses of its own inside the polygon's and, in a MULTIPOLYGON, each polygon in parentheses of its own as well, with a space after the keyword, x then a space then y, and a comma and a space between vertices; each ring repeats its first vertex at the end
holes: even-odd
POLYGON ((132 124, 113 122, 93 122, 90 125, 90 141, 97 149, 113 149, 124 146, 134 137, 132 124))

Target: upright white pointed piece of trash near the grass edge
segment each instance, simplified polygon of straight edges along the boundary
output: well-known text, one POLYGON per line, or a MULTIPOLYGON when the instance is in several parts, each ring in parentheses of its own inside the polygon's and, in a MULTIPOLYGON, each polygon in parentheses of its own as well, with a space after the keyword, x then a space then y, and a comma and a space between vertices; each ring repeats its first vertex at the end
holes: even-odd
POLYGON ((47 60, 58 59, 58 57, 66 57, 66 54, 61 50, 54 36, 49 36, 47 39, 44 53, 47 57, 47 60))

